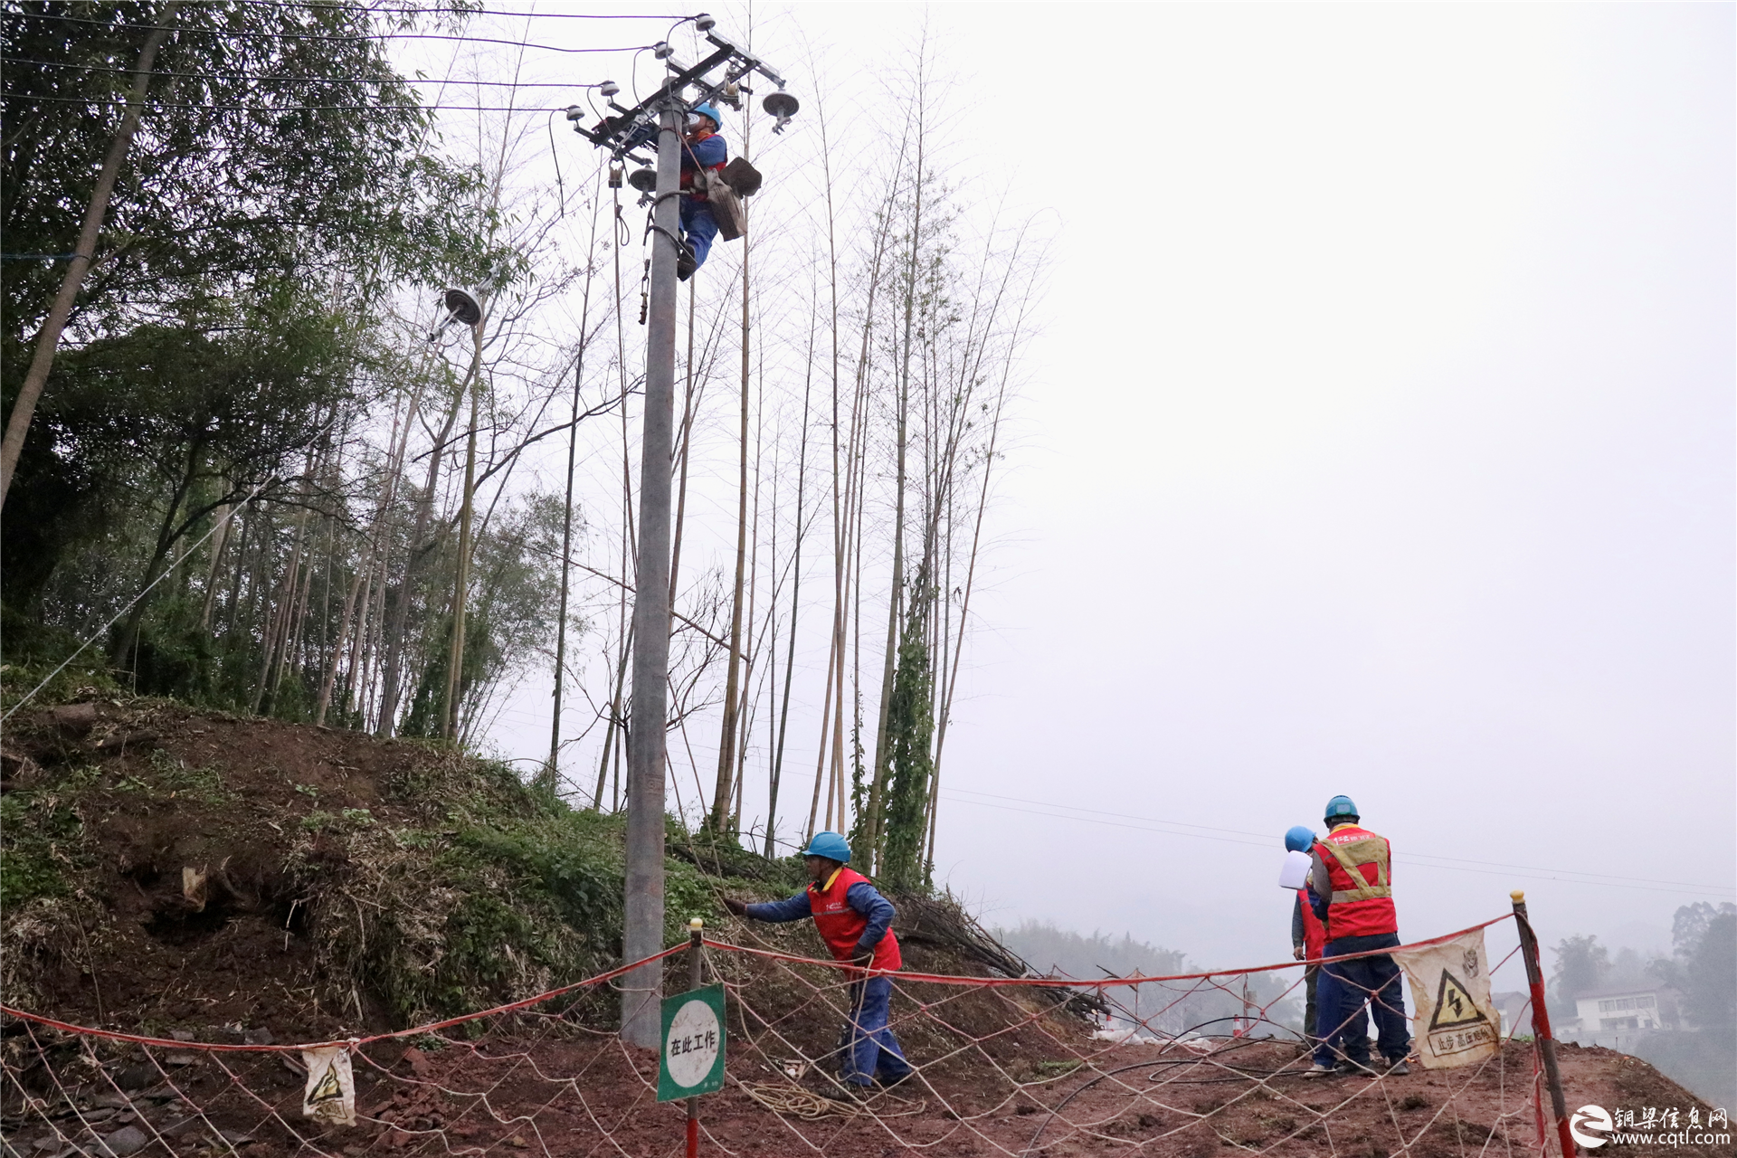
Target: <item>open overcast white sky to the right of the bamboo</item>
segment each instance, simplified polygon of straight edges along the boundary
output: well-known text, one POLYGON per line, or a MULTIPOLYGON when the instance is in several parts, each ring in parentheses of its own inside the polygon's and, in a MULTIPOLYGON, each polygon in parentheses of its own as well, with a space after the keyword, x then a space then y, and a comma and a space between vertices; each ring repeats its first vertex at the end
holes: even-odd
POLYGON ((1280 835, 1346 792, 1407 938, 1523 887, 1546 941, 1668 950, 1737 896, 1730 5, 778 12, 862 69, 928 19, 1058 238, 955 891, 1278 960, 1280 835))

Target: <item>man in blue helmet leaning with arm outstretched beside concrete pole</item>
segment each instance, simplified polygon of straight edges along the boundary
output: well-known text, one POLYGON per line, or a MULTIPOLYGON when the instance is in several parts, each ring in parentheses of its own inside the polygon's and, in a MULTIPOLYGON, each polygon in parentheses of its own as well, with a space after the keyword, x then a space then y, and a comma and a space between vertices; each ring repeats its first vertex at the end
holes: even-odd
POLYGON ((875 1080, 893 1087, 910 1076, 910 1063, 888 1028, 893 979, 903 960, 893 936, 893 903, 853 868, 851 845, 835 832, 818 832, 802 849, 809 885, 787 901, 743 905, 724 898, 736 917, 787 922, 815 918, 815 931, 839 962, 853 965, 851 1038, 844 1054, 844 1094, 863 1097, 875 1080), (874 969, 875 976, 860 970, 874 969))

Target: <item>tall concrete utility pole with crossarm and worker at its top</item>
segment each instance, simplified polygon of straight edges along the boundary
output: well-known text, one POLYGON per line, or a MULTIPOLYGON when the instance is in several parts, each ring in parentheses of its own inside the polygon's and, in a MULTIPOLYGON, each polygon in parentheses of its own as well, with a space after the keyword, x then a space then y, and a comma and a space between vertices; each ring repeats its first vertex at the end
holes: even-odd
MULTIPOLYGON (((634 656, 632 698, 627 736, 627 884, 624 905, 622 957, 644 960, 657 955, 664 944, 664 766, 667 726, 669 679, 669 552, 670 552, 670 453, 676 398, 676 281, 691 274, 703 259, 695 241, 700 233, 723 233, 728 240, 736 224, 719 220, 719 207, 733 205, 735 194, 749 194, 759 188, 759 174, 742 158, 723 163, 721 146, 705 148, 709 132, 702 135, 690 128, 693 122, 705 130, 717 125, 717 104, 742 108, 742 94, 752 92, 743 83, 757 73, 778 87, 766 95, 761 108, 775 118, 773 132, 783 127, 797 111, 797 101, 787 94, 783 76, 766 61, 735 45, 717 33, 717 21, 707 14, 693 17, 693 26, 712 45, 712 52, 698 64, 683 64, 669 43, 658 43, 651 54, 664 61, 667 76, 657 92, 632 108, 615 102, 620 89, 603 82, 598 90, 608 101, 611 115, 589 128, 582 123, 585 109, 573 106, 566 116, 573 130, 599 149, 610 151, 611 163, 624 158, 646 165, 639 153, 655 141, 657 170, 641 168, 629 175, 629 184, 639 189, 641 203, 651 210, 646 236, 651 243, 651 274, 646 309, 646 382, 644 420, 639 457, 639 566, 634 594, 634 656), (702 111, 702 116, 693 116, 702 111), (700 137, 695 142, 695 137, 700 137), (710 161, 707 158, 712 158, 710 161), (688 196, 683 198, 683 168, 688 165, 688 196), (714 163, 716 161, 716 163, 714 163), (731 174, 735 168, 735 174, 731 174), (681 201, 698 205, 705 194, 705 222, 697 208, 683 210, 681 201), (684 238, 683 226, 688 224, 684 238), (691 262, 691 266, 690 266, 691 262)), ((728 214, 728 208, 724 208, 728 214)), ((740 236, 740 233, 736 233, 740 236)), ((705 236, 705 247, 710 247, 705 236)), ((622 1036, 632 1045, 657 1047, 660 1040, 658 1002, 664 988, 664 965, 650 962, 622 977, 622 1036)))

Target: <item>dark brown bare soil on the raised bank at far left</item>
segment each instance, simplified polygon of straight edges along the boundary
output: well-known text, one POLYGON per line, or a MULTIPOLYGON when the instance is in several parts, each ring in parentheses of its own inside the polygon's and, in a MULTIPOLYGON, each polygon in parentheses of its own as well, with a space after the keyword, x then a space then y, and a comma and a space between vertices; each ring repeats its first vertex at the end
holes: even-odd
POLYGON ((339 1007, 320 984, 304 936, 307 898, 285 861, 301 847, 307 863, 346 868, 342 842, 302 832, 316 811, 419 821, 420 809, 384 786, 443 753, 306 724, 102 701, 36 712, 5 747, 19 760, 5 788, 33 786, 45 766, 101 773, 78 811, 102 861, 99 896, 85 899, 106 920, 89 922, 76 941, 43 943, 31 977, 57 1017, 158 1033, 266 1024, 299 1040, 391 1028, 368 993, 339 1007), (167 799, 163 769, 186 778, 167 799), (221 769, 221 795, 201 780, 205 769, 221 769), (148 778, 156 792, 129 788, 148 778), (182 892, 184 866, 208 870, 203 906, 182 892))

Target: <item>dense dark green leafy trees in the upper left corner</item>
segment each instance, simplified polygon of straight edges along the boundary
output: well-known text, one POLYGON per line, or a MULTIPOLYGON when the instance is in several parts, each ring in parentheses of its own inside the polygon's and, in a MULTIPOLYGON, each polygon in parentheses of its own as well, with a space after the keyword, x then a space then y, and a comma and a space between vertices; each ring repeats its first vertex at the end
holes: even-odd
MULTIPOLYGON (((413 373, 387 352, 389 295, 526 276, 528 259, 497 240, 500 212, 479 207, 478 172, 431 151, 413 85, 370 35, 382 19, 417 23, 408 7, 181 5, 184 31, 158 56, 156 99, 0 510, 0 660, 69 653, 222 503, 257 493, 261 507, 332 509, 328 479, 299 477, 306 451, 365 418, 382 380, 413 373)), ((59 14, 76 19, 0 28, 12 61, 0 252, 75 247, 155 7, 71 0, 59 14)), ((0 408, 63 273, 0 262, 0 408)), ((257 523, 255 547, 287 547, 288 519, 257 523)), ((231 609, 214 630, 195 566, 134 609, 111 653, 134 691, 252 710, 269 611, 259 589, 280 575, 238 576, 248 615, 231 609)), ((311 717, 318 675, 276 672, 266 707, 311 717)))

